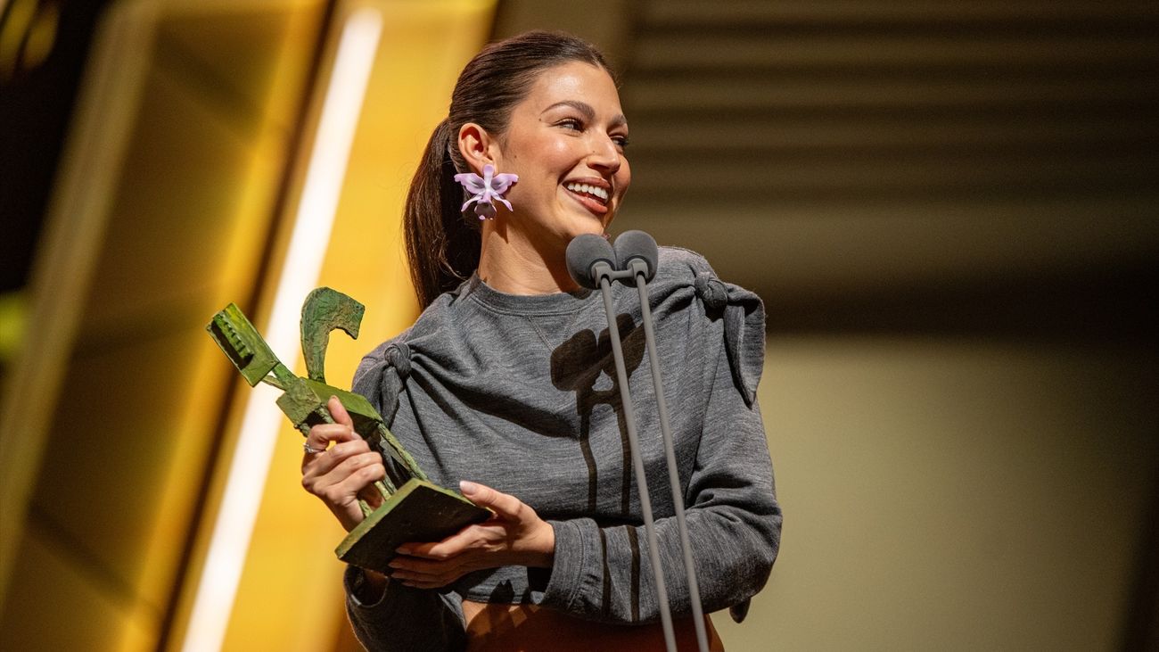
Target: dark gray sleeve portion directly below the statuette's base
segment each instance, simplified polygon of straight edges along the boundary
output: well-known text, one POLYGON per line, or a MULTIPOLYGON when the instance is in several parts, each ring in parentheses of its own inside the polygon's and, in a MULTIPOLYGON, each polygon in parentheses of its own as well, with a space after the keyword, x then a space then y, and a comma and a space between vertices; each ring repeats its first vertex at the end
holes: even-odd
POLYGON ((347 568, 347 615, 355 636, 371 652, 451 652, 464 650, 462 601, 454 593, 408 588, 389 582, 374 603, 358 599, 356 578, 360 573, 347 568))

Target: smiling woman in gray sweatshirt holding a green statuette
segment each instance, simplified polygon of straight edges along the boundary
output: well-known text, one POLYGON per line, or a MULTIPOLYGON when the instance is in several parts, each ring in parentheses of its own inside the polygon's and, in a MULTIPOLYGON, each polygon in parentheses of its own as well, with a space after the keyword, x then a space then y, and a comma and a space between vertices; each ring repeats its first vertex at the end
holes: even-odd
MULTIPOLYGON (((583 41, 529 32, 489 45, 462 71, 406 208, 425 310, 364 358, 355 390, 433 481, 496 516, 402 546, 389 578, 348 570, 348 611, 367 647, 663 647, 606 317, 599 294, 581 290, 564 262, 573 238, 602 234, 615 217, 632 179, 627 140, 608 66, 583 41), (501 202, 479 219, 473 207, 464 212, 469 194, 455 175, 489 171, 518 180, 504 195, 511 209, 501 202)), ((755 403, 763 307, 683 249, 661 249, 650 288, 704 609, 743 613, 768 577, 781 523, 755 403)), ((629 372, 640 378, 648 369, 634 299, 615 290, 629 372)), ((654 393, 647 378, 632 384, 687 646, 654 393)), ((330 410, 338 422, 311 430, 318 452, 302 461, 302 484, 350 530, 362 520, 358 498, 374 501, 367 487, 385 469, 336 400, 330 410)))

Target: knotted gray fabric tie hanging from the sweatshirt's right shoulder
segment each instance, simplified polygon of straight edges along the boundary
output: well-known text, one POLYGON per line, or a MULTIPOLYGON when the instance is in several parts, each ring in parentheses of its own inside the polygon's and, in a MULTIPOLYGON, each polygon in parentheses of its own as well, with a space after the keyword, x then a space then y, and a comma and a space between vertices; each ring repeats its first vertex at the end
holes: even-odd
POLYGON ((695 270, 693 287, 710 317, 724 319, 724 352, 732 382, 752 407, 765 364, 765 304, 739 285, 726 283, 712 269, 695 270))

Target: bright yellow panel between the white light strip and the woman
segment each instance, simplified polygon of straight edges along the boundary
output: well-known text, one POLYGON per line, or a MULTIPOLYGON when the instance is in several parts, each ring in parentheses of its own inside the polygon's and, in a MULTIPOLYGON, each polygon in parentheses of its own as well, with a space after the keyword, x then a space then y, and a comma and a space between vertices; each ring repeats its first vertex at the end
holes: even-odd
MULTIPOLYGON (((406 328, 417 305, 402 260, 406 188, 462 65, 490 31, 494 1, 376 2, 384 31, 319 285, 366 304, 362 339, 335 332, 327 378, 349 386, 358 360, 406 328)), ((352 7, 351 7, 352 8, 352 7)), ((343 12, 350 8, 343 8, 343 12)), ((301 370, 299 369, 299 372, 301 370)), ((242 391, 252 391, 243 387, 242 391)), ((344 533, 301 488, 301 435, 287 423, 274 459, 226 632, 226 650, 326 650, 342 613, 344 533)))

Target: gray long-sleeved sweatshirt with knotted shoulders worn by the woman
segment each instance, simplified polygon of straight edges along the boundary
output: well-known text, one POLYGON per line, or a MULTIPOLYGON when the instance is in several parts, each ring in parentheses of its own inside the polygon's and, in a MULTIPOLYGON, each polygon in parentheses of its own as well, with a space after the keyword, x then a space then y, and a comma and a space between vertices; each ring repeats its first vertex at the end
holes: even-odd
MULTIPOLYGON (((768 578, 781 530, 756 401, 764 306, 678 248, 661 248, 649 290, 704 609, 743 611, 768 578)), ((619 283, 613 295, 664 580, 673 615, 686 615, 639 296, 619 283)), ((371 352, 353 389, 432 481, 512 494, 555 531, 552 568, 479 571, 445 593, 392 582, 381 600, 364 603, 359 572, 348 570, 348 613, 367 649, 464 647, 464 599, 606 623, 659 618, 598 291, 513 296, 472 277, 371 352)))

